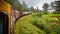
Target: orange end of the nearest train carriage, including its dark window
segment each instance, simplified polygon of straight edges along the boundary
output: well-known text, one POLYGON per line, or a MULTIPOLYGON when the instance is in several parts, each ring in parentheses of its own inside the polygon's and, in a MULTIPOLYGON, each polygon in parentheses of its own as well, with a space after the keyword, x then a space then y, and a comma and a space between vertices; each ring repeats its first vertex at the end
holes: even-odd
POLYGON ((10 34, 10 5, 0 0, 0 34, 10 34))

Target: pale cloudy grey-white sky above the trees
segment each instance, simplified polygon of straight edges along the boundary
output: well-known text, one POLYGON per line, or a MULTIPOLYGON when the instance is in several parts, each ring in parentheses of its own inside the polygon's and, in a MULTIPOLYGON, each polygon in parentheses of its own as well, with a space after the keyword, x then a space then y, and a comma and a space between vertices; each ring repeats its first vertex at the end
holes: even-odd
POLYGON ((39 8, 40 10, 42 10, 42 6, 44 3, 51 3, 57 0, 18 0, 20 3, 22 3, 23 1, 27 4, 28 7, 33 6, 34 8, 39 8))

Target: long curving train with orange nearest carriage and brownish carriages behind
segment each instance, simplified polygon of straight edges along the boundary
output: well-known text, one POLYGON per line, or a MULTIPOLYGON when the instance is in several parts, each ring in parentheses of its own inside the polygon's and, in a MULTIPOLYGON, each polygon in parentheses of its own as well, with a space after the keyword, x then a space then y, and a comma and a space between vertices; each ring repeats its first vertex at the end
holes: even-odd
POLYGON ((11 34, 11 28, 14 26, 13 22, 15 22, 17 18, 29 14, 32 14, 32 12, 19 12, 11 8, 9 3, 0 0, 0 34, 11 34))

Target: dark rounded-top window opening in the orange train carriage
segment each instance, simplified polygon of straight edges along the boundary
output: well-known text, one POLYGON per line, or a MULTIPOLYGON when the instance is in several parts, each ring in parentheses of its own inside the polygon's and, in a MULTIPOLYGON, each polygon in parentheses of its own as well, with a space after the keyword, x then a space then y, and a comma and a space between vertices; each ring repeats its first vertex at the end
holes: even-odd
POLYGON ((0 12, 0 34, 8 34, 8 15, 0 12))

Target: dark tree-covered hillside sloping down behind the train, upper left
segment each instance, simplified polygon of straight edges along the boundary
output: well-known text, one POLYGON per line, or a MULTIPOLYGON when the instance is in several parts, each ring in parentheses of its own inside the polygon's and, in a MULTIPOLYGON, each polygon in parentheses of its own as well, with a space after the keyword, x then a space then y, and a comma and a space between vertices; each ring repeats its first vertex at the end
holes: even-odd
POLYGON ((24 4, 24 2, 23 2, 23 4, 21 4, 21 3, 19 3, 19 1, 18 0, 6 0, 8 3, 10 3, 15 9, 17 9, 17 10, 19 10, 19 11, 27 11, 27 5, 25 5, 24 4))

